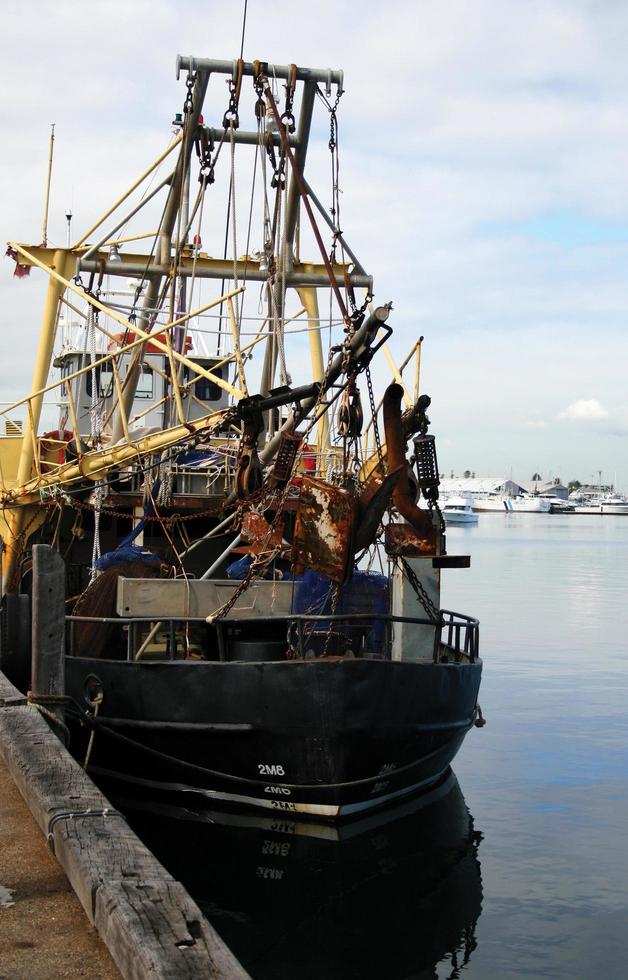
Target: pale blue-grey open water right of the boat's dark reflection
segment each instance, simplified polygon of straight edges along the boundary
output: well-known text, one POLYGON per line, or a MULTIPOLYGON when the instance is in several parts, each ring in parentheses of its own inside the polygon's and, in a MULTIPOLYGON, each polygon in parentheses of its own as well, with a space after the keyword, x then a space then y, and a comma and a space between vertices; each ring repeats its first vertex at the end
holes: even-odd
MULTIPOLYGON (((444 601, 481 620, 455 768, 484 840, 468 977, 628 975, 628 518, 482 515, 444 601)), ((438 974, 437 974, 438 975, 438 974)))

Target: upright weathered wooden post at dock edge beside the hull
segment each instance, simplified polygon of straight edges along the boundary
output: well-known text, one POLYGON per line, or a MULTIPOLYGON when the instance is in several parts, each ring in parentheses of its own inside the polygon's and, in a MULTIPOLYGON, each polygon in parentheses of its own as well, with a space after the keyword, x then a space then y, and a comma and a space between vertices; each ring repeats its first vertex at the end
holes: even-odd
MULTIPOLYGON (((49 544, 33 547, 33 632, 31 690, 65 694, 65 562, 49 544)), ((50 706, 63 718, 62 709, 50 706)))

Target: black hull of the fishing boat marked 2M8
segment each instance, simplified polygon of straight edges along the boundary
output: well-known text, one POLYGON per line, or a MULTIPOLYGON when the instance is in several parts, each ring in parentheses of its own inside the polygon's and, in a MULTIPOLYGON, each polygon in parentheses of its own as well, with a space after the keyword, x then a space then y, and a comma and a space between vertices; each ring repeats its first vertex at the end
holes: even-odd
MULTIPOLYGON (((86 689, 102 688, 95 775, 336 819, 442 775, 473 725, 481 669, 481 661, 74 657, 66 690, 85 706, 86 689)), ((85 734, 73 732, 79 757, 85 734)))

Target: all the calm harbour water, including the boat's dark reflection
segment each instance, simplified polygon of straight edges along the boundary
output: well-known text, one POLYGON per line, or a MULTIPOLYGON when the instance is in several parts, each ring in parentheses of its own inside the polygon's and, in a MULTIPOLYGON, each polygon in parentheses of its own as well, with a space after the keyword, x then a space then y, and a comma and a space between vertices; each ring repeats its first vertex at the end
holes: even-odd
POLYGON ((485 665, 457 782, 340 837, 133 817, 255 980, 628 975, 628 517, 486 514, 448 548, 485 665))

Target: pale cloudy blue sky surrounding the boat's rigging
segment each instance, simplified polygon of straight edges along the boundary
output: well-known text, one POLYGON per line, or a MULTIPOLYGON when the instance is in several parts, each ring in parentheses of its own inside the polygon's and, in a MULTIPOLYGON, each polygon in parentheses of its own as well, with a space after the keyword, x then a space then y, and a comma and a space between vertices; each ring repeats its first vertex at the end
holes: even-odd
MULTIPOLYGON (((3 7, 0 235, 78 233, 157 156, 178 52, 234 58, 241 5, 3 7), (35 16, 36 12, 36 16, 35 16)), ((342 67, 343 230, 425 337, 443 470, 628 490, 628 6, 585 0, 249 0, 245 57, 342 67)), ((219 90, 220 93, 220 90, 219 90)), ((211 111, 222 113, 219 94, 211 111)), ((319 116, 310 179, 329 184, 319 116)), ((30 386, 42 280, 0 265, 2 400, 30 386)), ((378 387, 386 383, 382 367, 378 387)))

